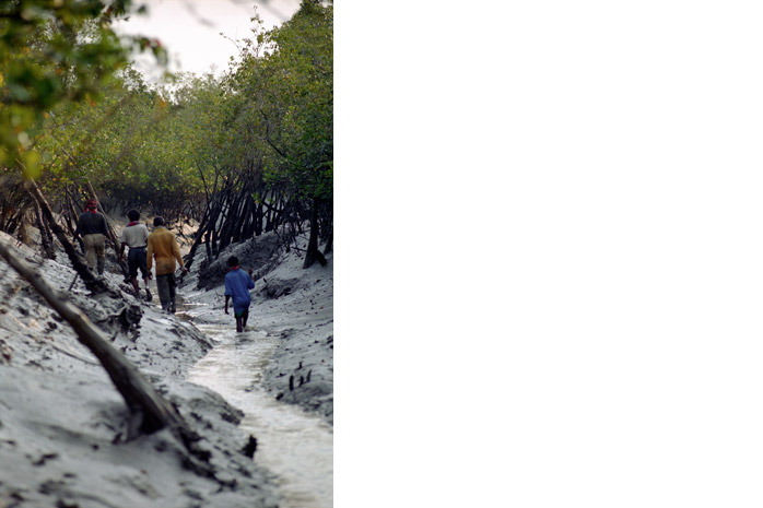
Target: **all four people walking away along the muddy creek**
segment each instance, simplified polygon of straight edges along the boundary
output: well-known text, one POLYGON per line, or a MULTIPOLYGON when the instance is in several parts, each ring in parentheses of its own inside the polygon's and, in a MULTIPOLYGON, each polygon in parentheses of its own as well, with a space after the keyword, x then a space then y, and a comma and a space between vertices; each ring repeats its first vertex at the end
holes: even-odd
MULTIPOLYGON (((103 275, 106 260, 106 238, 108 237, 108 225, 106 217, 98 213, 98 202, 94 199, 85 203, 85 211, 77 223, 74 237, 82 235, 82 243, 85 249, 85 259, 91 270, 97 270, 98 275, 103 275)), ((138 272, 140 271, 145 284, 145 299, 151 302, 151 291, 149 281, 152 279, 151 269, 156 272, 156 291, 162 310, 175 314, 175 262, 180 267, 183 273, 188 269, 183 262, 180 247, 177 245, 175 235, 167 231, 164 218, 154 217, 154 231, 149 233, 145 224, 140 222, 140 212, 130 210, 127 212, 130 220, 121 232, 119 243, 119 262, 125 259, 125 247, 127 247, 127 267, 130 283, 140 298, 140 286, 138 284, 138 272)), ((254 290, 255 281, 251 279, 251 270, 245 272, 238 264, 238 258, 232 256, 227 260, 228 271, 225 274, 225 314, 228 314, 228 303, 233 303, 233 314, 236 318, 236 331, 243 332, 249 318, 249 306, 251 296, 249 291, 254 290)))

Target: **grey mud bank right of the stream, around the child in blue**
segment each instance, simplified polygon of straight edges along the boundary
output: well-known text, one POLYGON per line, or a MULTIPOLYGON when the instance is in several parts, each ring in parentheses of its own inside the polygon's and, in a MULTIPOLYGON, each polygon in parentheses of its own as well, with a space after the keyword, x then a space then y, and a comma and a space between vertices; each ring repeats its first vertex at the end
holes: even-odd
MULTIPOLYGON (((195 263, 184 281, 187 312, 198 326, 214 324, 235 331, 233 315, 223 312, 224 270, 228 256, 255 274, 248 331, 278 338, 261 383, 273 398, 316 412, 333 425, 333 256, 328 263, 302 268, 302 256, 274 251, 268 234, 221 253, 207 272, 216 279, 199 282, 195 263), (218 281, 216 285, 214 281, 218 281)), ((303 238, 301 246, 306 240, 303 238)))

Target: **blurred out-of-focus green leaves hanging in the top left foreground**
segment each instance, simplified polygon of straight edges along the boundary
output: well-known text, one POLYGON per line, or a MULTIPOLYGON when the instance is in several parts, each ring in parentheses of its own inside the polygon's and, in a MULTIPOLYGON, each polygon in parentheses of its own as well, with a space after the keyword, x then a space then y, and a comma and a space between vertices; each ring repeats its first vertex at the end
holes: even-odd
POLYGON ((0 167, 39 176, 45 156, 35 141, 45 111, 61 103, 92 103, 127 67, 132 47, 165 60, 159 42, 120 40, 111 29, 111 21, 131 8, 131 0, 0 3, 0 167))

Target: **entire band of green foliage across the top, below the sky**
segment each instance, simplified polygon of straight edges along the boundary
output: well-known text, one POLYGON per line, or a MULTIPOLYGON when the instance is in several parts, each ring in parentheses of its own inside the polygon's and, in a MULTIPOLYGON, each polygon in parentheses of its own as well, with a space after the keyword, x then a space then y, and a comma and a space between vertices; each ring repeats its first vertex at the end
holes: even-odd
MULTIPOLYGON (((250 39, 221 79, 148 85, 111 20, 130 0, 15 0, 0 7, 0 170, 62 196, 90 180, 130 206, 203 210, 225 185, 305 205, 333 198, 333 8, 304 1, 250 39), (256 181, 256 185, 250 185, 256 181)), ((140 10, 140 8, 137 8, 140 10)), ((247 191, 248 192, 248 191, 247 191)))

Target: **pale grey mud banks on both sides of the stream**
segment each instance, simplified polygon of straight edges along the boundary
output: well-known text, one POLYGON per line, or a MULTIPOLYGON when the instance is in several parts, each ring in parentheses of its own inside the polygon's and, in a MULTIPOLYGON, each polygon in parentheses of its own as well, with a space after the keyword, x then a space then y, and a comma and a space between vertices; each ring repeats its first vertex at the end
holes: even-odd
MULTIPOLYGON (((40 261, 32 249, 20 250, 51 285, 67 292, 74 273, 62 253, 58 261, 40 261)), ((281 338, 263 387, 332 422, 331 258, 328 267, 308 270, 298 261, 285 256, 265 275, 267 284, 257 281, 249 327, 281 338), (273 284, 292 291, 269 299, 266 288, 273 284), (309 382, 304 381, 307 371, 309 382), (290 376, 295 386, 303 376, 303 386, 290 391, 290 376)), ((107 279, 128 288, 121 275, 107 279)), ((233 317, 222 312, 222 290, 204 293, 185 284, 179 294, 189 303, 218 306, 199 306, 197 322, 235 328, 233 317)), ((277 506, 275 475, 257 465, 257 456, 251 461, 238 453, 248 438, 237 427, 243 413, 186 380, 210 351, 210 339, 183 316, 163 315, 156 296, 150 305, 126 293, 121 299, 89 297, 80 282, 69 295, 204 437, 216 480, 184 468, 186 452, 167 432, 121 440, 127 409, 104 369, 70 327, 0 261, 0 506, 277 506), (130 307, 143 312, 137 329, 119 322, 118 315, 130 307)))

